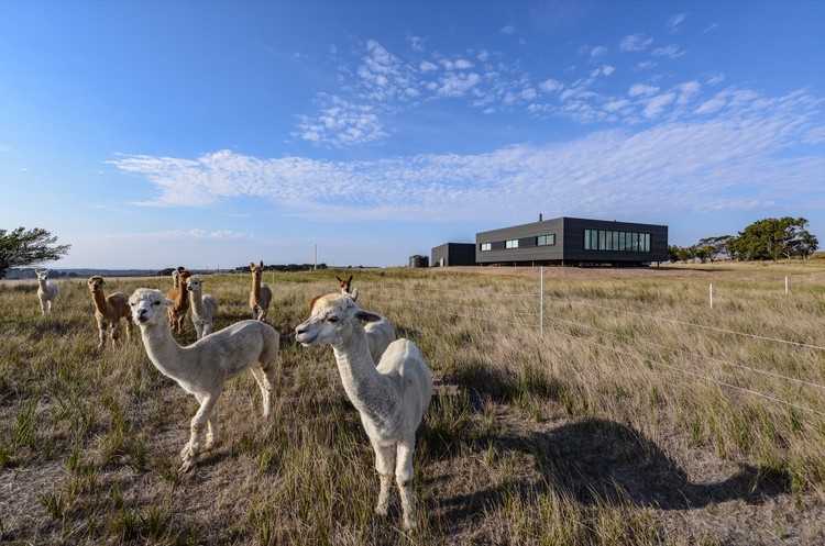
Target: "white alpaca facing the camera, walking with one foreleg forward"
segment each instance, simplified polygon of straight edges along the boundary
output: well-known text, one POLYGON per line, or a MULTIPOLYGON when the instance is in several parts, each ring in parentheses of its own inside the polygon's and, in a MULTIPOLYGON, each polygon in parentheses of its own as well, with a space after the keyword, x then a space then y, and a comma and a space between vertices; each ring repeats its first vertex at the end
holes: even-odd
POLYGON ((166 321, 165 308, 174 301, 160 290, 139 288, 129 304, 152 364, 200 404, 191 420, 189 442, 180 450, 180 471, 194 468, 197 456, 218 443, 217 402, 228 379, 252 370, 261 388, 264 416, 270 415, 280 345, 275 328, 260 321, 241 321, 182 347, 166 321))

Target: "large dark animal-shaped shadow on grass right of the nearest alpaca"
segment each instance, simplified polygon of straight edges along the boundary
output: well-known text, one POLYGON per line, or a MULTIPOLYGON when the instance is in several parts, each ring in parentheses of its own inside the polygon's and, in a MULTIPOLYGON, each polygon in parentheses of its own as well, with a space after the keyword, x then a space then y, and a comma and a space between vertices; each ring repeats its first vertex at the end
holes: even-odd
POLYGON ((492 436, 501 452, 517 449, 535 457, 542 480, 516 481, 442 500, 449 520, 464 519, 475 509, 503 506, 514 489, 524 499, 552 488, 585 506, 634 504, 660 510, 686 510, 745 500, 761 504, 790 491, 785 472, 740 465, 721 481, 691 481, 659 446, 638 431, 612 421, 590 419, 546 434, 492 436))

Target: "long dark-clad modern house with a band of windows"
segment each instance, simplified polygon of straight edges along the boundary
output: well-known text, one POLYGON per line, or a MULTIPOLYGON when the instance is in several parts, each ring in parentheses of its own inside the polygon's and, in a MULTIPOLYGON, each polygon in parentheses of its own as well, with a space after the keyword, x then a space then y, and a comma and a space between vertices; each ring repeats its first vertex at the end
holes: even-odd
POLYGON ((557 218, 475 234, 479 265, 648 265, 668 259, 668 226, 557 218))

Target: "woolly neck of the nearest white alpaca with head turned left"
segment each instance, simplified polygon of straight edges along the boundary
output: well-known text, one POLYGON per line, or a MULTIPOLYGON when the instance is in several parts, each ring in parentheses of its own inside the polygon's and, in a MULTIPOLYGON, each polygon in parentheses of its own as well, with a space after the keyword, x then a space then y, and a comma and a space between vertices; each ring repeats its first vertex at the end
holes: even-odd
POLYGON ((344 334, 343 342, 332 345, 346 395, 359 412, 371 421, 392 423, 400 409, 399 393, 392 388, 387 377, 375 368, 364 326, 354 322, 346 327, 350 332, 344 334))

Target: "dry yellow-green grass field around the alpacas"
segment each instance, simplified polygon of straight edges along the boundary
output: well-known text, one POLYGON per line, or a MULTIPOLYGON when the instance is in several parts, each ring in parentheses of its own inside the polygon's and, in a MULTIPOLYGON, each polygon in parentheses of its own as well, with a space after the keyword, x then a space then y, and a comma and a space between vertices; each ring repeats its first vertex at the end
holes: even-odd
MULTIPOLYGON (((348 271, 432 370, 414 532, 397 494, 373 513, 373 452, 332 352, 293 339, 337 272, 265 275, 274 414, 251 375, 228 383, 222 443, 190 475, 197 404, 144 371, 140 335, 99 350, 85 280, 61 280, 45 317, 34 283, 0 283, 0 542, 825 543, 824 260, 544 268, 543 319, 537 268, 348 271)), ((216 328, 251 316, 249 275, 205 279, 216 328)))

